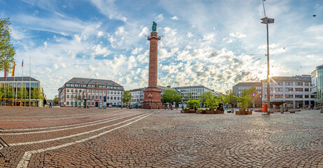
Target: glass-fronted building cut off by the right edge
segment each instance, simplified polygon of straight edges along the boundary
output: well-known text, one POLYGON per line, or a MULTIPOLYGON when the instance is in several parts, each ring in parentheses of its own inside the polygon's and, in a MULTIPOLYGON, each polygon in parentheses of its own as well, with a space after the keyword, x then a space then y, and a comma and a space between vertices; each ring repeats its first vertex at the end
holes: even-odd
POLYGON ((312 71, 311 81, 311 93, 316 95, 315 106, 323 106, 323 65, 312 71))

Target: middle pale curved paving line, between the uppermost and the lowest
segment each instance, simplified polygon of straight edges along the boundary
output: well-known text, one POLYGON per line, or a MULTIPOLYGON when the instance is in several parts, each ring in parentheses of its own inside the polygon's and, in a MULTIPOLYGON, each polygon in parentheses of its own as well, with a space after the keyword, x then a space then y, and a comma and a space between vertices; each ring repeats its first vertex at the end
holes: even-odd
MULTIPOLYGON (((141 116, 144 116, 146 115, 146 113, 140 115, 140 116, 137 116, 135 118, 139 118, 141 116)), ((135 116, 135 115, 132 115, 132 116, 135 116)), ((123 118, 126 118, 126 117, 123 117, 123 118)), ((116 125, 119 125, 119 124, 122 124, 122 123, 125 123, 125 122, 128 122, 130 120, 134 120, 135 118, 130 118, 129 120, 124 120, 123 122, 121 123, 116 123, 114 125, 109 125, 109 126, 105 126, 105 127, 100 127, 96 130, 91 130, 91 131, 88 131, 88 132, 81 132, 81 133, 78 133, 78 134, 71 134, 69 136, 65 136, 65 137, 58 137, 58 138, 55 138, 55 139, 45 139, 45 140, 41 140, 41 141, 30 141, 30 142, 20 142, 20 143, 15 143, 15 144, 9 144, 9 146, 21 146, 21 145, 28 145, 28 144, 38 144, 38 143, 43 143, 43 142, 48 142, 48 141, 57 141, 57 140, 60 140, 60 139, 67 139, 67 138, 71 138, 71 137, 77 137, 77 136, 80 136, 80 135, 83 135, 83 134, 90 134, 92 132, 97 132, 99 130, 103 130, 103 129, 106 129, 108 127, 114 127, 116 125)), ((118 119, 121 119, 121 118, 116 118, 114 120, 118 120, 118 119)), ((110 120, 110 121, 114 121, 114 120, 110 120)), ((110 122, 109 121, 109 122, 110 122)))

